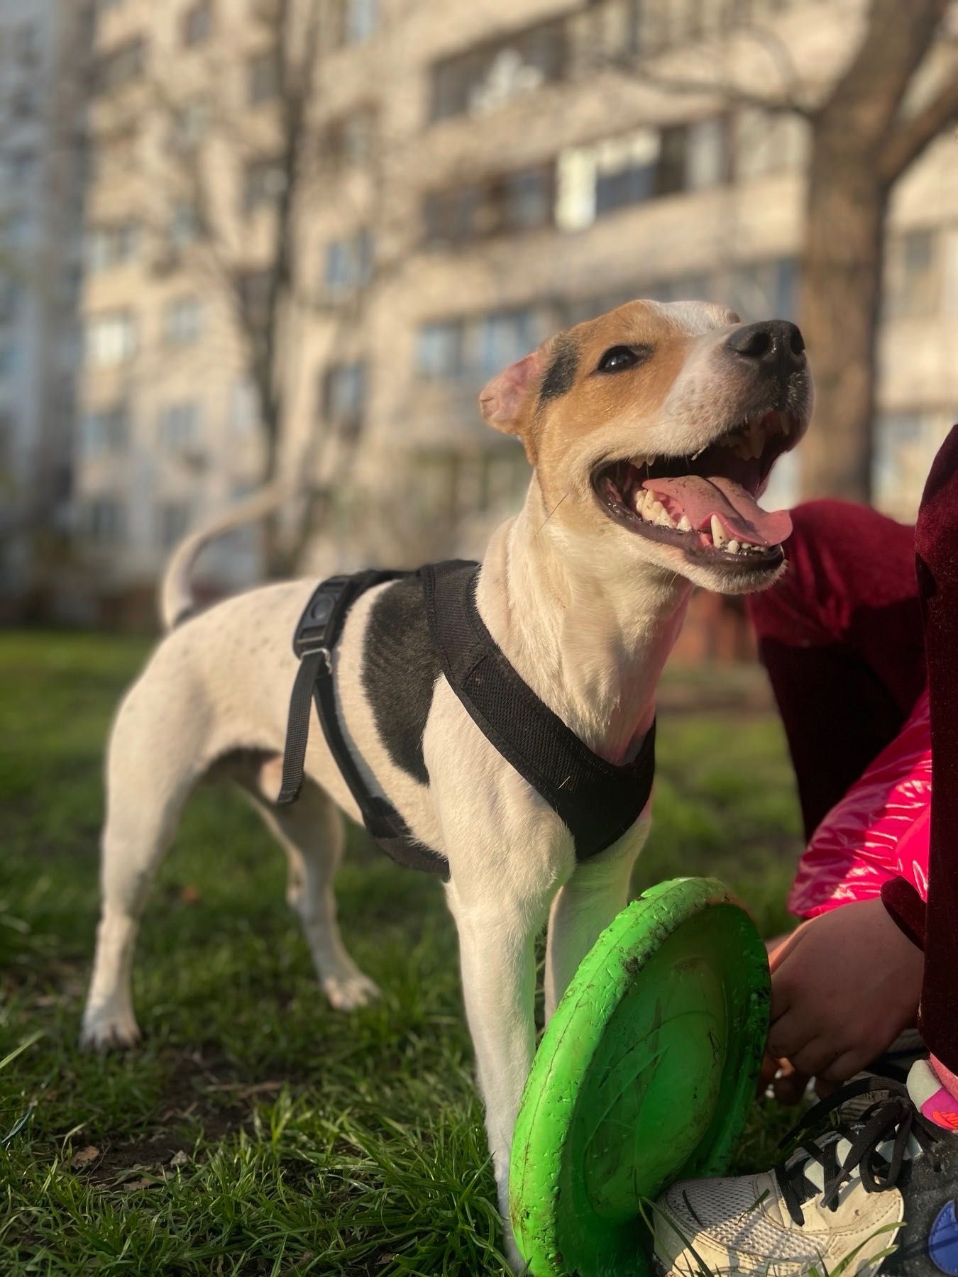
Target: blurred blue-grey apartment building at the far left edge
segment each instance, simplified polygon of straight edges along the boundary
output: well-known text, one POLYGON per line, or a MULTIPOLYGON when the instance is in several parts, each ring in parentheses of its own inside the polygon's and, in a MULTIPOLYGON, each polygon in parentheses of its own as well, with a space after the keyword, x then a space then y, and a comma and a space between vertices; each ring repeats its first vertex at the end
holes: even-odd
POLYGON ((83 0, 0 0, 0 614, 50 589, 79 352, 83 0))

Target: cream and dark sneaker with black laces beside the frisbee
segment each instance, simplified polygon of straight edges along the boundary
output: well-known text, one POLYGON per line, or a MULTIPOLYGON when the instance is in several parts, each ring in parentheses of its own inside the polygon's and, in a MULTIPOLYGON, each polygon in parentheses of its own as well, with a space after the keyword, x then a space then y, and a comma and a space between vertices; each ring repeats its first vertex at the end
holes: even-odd
POLYGON ((659 1198, 662 1272, 958 1277, 958 1134, 924 1116, 906 1087, 853 1080, 783 1144, 797 1134, 796 1152, 769 1172, 685 1180, 659 1198), (812 1138, 826 1115, 830 1128, 812 1138))

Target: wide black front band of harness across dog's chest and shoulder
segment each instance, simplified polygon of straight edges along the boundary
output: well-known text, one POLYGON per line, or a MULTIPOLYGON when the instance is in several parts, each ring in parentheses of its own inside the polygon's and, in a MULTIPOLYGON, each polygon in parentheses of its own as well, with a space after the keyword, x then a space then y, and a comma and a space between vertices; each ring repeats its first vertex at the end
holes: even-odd
POLYGON ((575 838, 576 859, 611 847, 651 796, 655 723, 636 757, 607 762, 539 700, 487 630, 475 605, 475 563, 422 568, 429 631, 442 672, 498 752, 548 802, 575 838))

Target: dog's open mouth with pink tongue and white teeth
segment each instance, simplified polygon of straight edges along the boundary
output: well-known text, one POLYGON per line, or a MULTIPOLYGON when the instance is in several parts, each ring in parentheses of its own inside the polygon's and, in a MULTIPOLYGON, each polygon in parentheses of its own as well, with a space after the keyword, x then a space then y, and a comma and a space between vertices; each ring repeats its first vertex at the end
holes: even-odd
POLYGON ((763 510, 757 493, 793 442, 795 418, 746 419, 691 457, 632 457, 599 467, 593 487, 607 513, 631 531, 710 564, 777 567, 792 531, 786 511, 763 510))

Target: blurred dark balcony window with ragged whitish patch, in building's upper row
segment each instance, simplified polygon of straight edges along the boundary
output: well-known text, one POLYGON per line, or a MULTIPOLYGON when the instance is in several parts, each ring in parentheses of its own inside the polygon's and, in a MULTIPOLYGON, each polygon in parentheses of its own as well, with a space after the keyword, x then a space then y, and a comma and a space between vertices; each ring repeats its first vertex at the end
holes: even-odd
POLYGON ((494 110, 566 69, 566 28, 549 22, 436 63, 430 119, 494 110))

